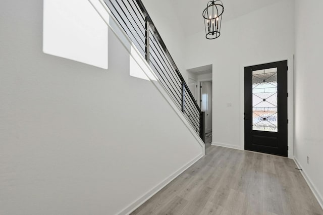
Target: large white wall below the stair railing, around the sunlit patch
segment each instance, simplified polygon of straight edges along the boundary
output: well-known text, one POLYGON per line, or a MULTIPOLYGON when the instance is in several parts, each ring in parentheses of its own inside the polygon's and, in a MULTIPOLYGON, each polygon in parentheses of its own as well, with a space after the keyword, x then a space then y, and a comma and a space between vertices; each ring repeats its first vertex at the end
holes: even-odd
POLYGON ((108 70, 44 54, 42 9, 0 8, 0 214, 129 212, 202 147, 111 29, 108 70))

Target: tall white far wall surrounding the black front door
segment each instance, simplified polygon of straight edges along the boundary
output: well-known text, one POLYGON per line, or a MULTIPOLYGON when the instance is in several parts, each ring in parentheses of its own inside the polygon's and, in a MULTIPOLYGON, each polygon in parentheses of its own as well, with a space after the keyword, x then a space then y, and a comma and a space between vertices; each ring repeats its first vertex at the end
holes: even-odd
POLYGON ((244 148, 243 68, 288 60, 289 156, 293 157, 293 14, 294 1, 282 1, 228 22, 224 15, 218 39, 207 40, 204 32, 188 37, 186 67, 213 65, 214 143, 244 148))

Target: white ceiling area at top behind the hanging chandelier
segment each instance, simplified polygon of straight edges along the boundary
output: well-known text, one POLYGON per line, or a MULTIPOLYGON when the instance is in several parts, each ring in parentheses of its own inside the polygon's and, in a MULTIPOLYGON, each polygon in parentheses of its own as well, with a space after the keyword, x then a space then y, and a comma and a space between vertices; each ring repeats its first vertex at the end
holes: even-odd
MULTIPOLYGON (((260 8, 285 0, 222 0, 225 11, 222 22, 256 11, 260 8)), ((172 0, 177 17, 186 35, 204 31, 202 12, 208 0, 172 0)))

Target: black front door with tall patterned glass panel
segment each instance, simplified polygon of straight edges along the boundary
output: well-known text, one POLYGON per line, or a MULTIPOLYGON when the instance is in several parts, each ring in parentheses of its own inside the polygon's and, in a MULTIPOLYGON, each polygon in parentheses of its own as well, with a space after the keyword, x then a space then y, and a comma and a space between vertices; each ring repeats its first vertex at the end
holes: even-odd
POLYGON ((287 61, 244 73, 245 149, 287 157, 287 61))

